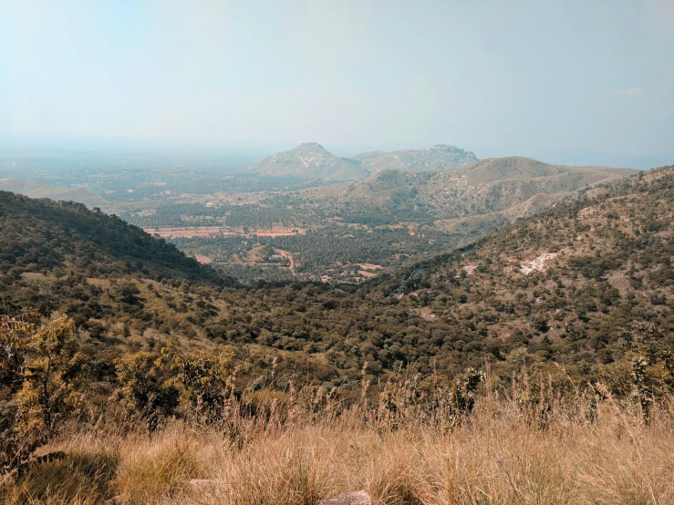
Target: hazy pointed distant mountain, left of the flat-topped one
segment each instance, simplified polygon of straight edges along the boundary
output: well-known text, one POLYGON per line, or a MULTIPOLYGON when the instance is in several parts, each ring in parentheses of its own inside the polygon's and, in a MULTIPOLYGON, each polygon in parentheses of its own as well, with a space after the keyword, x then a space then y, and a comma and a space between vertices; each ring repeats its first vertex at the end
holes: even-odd
POLYGON ((268 156, 247 170, 260 175, 327 182, 359 180, 369 173, 358 161, 337 158, 316 142, 300 144, 295 149, 268 156))

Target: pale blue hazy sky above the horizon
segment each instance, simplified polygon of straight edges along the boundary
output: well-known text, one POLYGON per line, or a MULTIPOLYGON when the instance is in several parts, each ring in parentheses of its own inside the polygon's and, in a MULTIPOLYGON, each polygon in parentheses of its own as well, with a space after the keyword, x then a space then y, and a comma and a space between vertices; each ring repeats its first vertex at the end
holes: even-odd
POLYGON ((673 55, 674 0, 0 0, 0 139, 655 160, 673 55))

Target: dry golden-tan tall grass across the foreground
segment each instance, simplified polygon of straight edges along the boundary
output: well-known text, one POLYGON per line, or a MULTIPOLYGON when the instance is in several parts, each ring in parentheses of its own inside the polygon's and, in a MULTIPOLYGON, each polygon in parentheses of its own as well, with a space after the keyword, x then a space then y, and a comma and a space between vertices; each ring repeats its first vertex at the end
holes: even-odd
POLYGON ((328 411, 238 417, 217 429, 176 422, 151 436, 71 428, 42 449, 65 457, 5 481, 0 499, 309 505, 368 490, 375 503, 400 505, 674 503, 672 397, 648 422, 611 397, 553 404, 541 422, 522 398, 488 394, 449 428, 413 409, 383 421, 362 403, 328 411))

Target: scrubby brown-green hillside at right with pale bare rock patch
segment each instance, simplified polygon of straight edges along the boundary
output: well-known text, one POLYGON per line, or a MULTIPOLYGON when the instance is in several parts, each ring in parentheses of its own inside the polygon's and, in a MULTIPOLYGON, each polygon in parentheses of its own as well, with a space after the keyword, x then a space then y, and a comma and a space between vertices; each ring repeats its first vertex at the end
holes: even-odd
MULTIPOLYGON (((522 352, 596 378, 627 353, 622 328, 630 322, 674 331, 672 237, 668 167, 583 191, 363 289, 443 321, 443 346, 456 339, 452 361, 477 364, 477 353, 499 366, 522 352)), ((674 344, 671 336, 665 342, 674 344)))

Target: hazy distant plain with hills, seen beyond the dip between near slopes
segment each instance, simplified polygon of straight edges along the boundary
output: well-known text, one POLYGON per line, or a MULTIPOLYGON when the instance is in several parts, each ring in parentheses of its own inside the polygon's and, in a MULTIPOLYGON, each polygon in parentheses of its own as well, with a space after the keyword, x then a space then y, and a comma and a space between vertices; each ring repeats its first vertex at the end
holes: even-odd
MULTIPOLYGON (((360 263, 395 269, 449 252, 634 172, 521 157, 478 161, 471 151, 451 146, 365 153, 353 160, 369 169, 345 176, 356 180, 339 182, 342 176, 336 176, 326 183, 334 179, 326 170, 338 175, 356 165, 307 143, 239 172, 152 168, 118 170, 109 178, 97 172, 91 179, 82 172, 78 191, 244 283, 361 283, 371 273, 360 263), (255 251, 262 248, 283 251, 294 267, 261 260, 255 251)), ((71 184, 74 176, 67 173, 59 185, 71 184)), ((0 189, 21 191, 13 184, 0 181, 0 189)), ((72 190, 30 194, 78 200, 77 193, 64 191, 72 190)))

